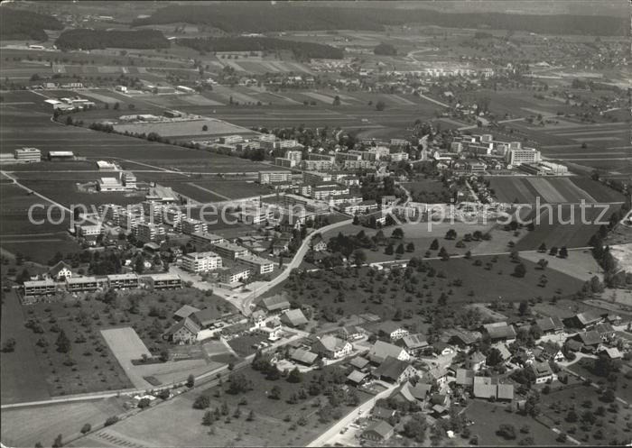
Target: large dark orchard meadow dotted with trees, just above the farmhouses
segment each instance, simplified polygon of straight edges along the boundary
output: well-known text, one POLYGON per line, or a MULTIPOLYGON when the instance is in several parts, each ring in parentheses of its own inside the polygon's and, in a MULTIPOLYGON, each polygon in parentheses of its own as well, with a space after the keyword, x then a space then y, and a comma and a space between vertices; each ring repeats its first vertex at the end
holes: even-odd
MULTIPOLYGON (((414 277, 417 283, 407 291, 402 278, 384 282, 376 277, 375 283, 367 275, 368 268, 355 270, 318 270, 306 272, 299 277, 291 276, 281 285, 273 288, 268 295, 282 290, 290 297, 300 300, 302 304, 314 306, 321 318, 337 322, 347 315, 373 313, 382 319, 391 319, 395 310, 402 311, 404 324, 418 322, 424 309, 433 309, 441 293, 447 294, 446 304, 455 310, 463 304, 472 302, 519 302, 534 297, 544 299, 560 295, 571 296, 577 292, 583 282, 554 270, 547 270, 546 286, 538 287, 541 270, 535 268, 531 261, 524 261, 526 274, 524 278, 512 275, 516 264, 508 255, 497 257, 480 256, 472 260, 451 259, 450 261, 427 261, 432 270, 417 272, 414 277), (480 261, 481 265, 474 265, 480 261), (454 280, 460 279, 461 286, 455 287, 454 280), (488 288, 489 285, 494 288, 488 288), (450 293, 451 291, 451 293, 450 293), (340 295, 342 299, 340 299, 340 295)), ((381 274, 376 274, 381 276, 381 274)))

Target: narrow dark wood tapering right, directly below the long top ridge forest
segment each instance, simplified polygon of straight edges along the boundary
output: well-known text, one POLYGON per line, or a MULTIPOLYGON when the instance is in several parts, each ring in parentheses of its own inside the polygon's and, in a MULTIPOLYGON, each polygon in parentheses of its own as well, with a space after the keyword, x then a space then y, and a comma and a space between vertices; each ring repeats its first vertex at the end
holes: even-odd
POLYGON ((198 51, 290 50, 296 59, 342 59, 343 52, 320 43, 285 41, 271 37, 215 37, 178 39, 180 45, 198 51))

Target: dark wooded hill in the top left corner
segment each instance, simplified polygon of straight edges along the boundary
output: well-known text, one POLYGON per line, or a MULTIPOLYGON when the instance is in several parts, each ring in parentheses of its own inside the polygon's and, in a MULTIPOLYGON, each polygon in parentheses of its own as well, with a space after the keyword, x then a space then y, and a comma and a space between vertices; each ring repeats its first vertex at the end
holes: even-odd
POLYGON ((63 24, 50 15, 0 7, 0 39, 48 41, 44 30, 63 30, 63 24))

